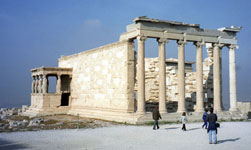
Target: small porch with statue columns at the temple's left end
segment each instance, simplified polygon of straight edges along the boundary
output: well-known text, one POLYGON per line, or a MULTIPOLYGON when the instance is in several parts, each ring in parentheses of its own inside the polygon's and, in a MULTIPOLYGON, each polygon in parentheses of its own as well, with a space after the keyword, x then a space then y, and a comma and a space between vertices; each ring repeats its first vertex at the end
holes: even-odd
POLYGON ((71 68, 40 67, 31 70, 31 107, 53 111, 53 108, 68 106, 70 95, 71 68), (56 77, 56 93, 49 93, 48 77, 56 77))

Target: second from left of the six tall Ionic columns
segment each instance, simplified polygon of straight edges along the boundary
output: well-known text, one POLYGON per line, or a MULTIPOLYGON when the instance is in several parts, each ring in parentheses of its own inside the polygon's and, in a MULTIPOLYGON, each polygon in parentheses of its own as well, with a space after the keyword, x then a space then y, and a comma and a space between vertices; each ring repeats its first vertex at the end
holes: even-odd
POLYGON ((167 113, 166 110, 166 53, 167 39, 158 39, 159 45, 159 112, 167 113))

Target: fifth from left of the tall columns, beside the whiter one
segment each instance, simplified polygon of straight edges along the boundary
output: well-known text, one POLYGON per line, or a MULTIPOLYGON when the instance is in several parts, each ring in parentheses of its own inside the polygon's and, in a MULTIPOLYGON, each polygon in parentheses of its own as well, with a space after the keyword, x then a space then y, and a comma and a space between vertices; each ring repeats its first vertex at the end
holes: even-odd
POLYGON ((220 51, 222 44, 214 44, 214 65, 213 65, 213 74, 214 74, 214 111, 222 111, 221 106, 221 66, 220 66, 220 51))

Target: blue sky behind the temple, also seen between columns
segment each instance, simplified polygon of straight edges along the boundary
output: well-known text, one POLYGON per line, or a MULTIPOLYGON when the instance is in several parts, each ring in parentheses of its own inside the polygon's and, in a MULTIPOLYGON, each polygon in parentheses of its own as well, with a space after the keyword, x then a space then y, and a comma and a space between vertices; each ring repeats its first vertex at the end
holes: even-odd
MULTIPOLYGON (((0 0, 0 108, 30 104, 32 68, 57 67, 60 56, 119 41, 138 16, 200 24, 237 33, 237 99, 251 101, 251 1, 249 0, 0 0)), ((157 57, 157 42, 146 41, 146 57, 157 57)), ((166 58, 177 58, 177 44, 166 58)), ((204 48, 203 57, 206 57, 204 48)), ((222 50, 223 102, 229 104, 228 49, 222 50)), ((196 48, 185 47, 195 61, 196 48)), ((52 79, 53 80, 53 79, 52 79)))

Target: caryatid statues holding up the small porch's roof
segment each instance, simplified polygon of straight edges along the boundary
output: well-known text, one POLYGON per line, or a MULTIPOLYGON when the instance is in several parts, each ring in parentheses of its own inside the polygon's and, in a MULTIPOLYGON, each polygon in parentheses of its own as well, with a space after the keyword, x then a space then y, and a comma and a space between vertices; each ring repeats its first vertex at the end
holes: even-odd
MULTIPOLYGON (((48 93, 49 81, 47 75, 32 76, 32 93, 48 93)), ((56 93, 61 91, 61 76, 57 75, 56 93)))

